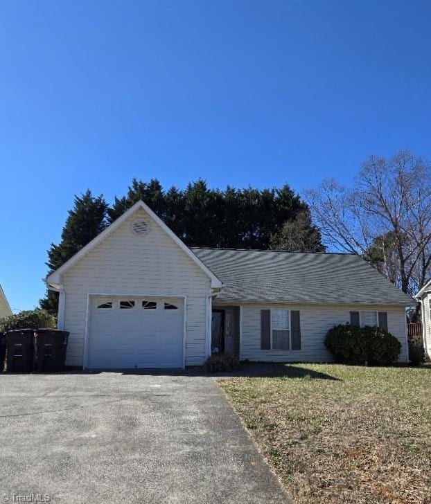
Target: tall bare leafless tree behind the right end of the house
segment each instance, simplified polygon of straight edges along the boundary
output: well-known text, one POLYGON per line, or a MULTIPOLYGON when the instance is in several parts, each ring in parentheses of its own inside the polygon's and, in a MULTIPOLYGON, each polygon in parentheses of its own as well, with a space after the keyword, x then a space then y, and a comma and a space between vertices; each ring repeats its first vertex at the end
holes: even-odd
POLYGON ((431 275, 431 166, 408 151, 371 156, 353 188, 325 180, 306 199, 324 241, 380 262, 407 294, 431 275))

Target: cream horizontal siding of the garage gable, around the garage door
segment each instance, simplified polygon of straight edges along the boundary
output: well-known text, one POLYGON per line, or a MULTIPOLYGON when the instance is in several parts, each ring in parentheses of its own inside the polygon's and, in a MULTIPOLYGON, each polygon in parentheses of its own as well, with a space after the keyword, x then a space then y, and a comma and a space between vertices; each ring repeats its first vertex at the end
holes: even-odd
POLYGON ((87 294, 187 296, 186 366, 206 358, 206 298, 211 280, 182 249, 139 209, 63 274, 64 329, 70 332, 67 366, 82 366, 87 294), (144 217, 150 233, 134 235, 131 224, 144 217))

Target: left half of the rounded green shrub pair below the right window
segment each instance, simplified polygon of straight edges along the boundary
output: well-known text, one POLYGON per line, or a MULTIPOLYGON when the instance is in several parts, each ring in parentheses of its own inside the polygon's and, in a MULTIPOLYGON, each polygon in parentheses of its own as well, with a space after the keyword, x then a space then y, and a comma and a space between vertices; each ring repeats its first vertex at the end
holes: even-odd
POLYGON ((325 345, 332 352, 335 362, 362 365, 367 361, 364 336, 354 325, 335 325, 328 330, 325 345))

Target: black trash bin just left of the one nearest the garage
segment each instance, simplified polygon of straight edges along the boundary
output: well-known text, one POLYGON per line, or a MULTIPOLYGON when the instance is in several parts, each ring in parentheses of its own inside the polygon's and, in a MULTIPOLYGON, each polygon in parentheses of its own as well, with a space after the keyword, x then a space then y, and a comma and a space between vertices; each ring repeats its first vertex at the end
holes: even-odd
POLYGON ((34 329, 15 329, 6 332, 6 371, 33 371, 34 329))

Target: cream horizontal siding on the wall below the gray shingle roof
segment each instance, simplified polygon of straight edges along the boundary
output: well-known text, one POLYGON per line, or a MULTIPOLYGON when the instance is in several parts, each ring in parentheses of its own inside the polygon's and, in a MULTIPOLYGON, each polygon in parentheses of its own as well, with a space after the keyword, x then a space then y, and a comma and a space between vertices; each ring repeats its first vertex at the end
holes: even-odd
POLYGON ((324 339, 334 325, 350 322, 350 312, 387 312, 388 330, 401 343, 399 361, 407 361, 405 309, 394 306, 359 305, 243 305, 241 316, 240 359, 274 362, 331 362, 324 339), (261 350, 261 309, 297 309, 301 318, 301 350, 261 350))

